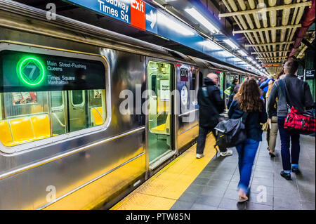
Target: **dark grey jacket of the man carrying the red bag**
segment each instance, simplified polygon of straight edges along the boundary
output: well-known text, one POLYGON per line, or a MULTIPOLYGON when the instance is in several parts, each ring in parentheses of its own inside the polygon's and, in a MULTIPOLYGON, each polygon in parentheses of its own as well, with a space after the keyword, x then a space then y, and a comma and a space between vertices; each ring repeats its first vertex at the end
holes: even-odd
POLYGON ((290 101, 289 104, 301 112, 311 109, 314 106, 310 86, 308 86, 307 82, 289 74, 284 79, 275 81, 271 88, 268 98, 268 117, 272 117, 275 98, 277 98, 277 117, 287 117, 287 98, 290 101), (287 97, 280 83, 281 81, 285 81, 287 84, 287 91, 289 93, 287 97))

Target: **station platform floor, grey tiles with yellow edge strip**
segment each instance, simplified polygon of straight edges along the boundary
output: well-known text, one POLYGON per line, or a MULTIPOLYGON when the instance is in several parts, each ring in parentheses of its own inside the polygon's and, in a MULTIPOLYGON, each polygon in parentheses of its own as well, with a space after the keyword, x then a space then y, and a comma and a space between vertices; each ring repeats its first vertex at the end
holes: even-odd
POLYGON ((251 176, 249 202, 237 203, 238 154, 215 157, 215 139, 209 135, 205 157, 195 158, 196 144, 156 173, 112 210, 315 210, 315 137, 301 136, 301 173, 282 171, 280 140, 276 155, 268 154, 265 133, 251 176))

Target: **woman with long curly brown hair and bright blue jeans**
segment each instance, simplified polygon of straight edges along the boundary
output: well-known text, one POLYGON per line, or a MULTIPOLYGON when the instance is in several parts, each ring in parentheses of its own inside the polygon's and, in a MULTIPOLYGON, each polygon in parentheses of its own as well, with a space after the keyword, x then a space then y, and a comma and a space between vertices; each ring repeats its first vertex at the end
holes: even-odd
POLYGON ((252 166, 256 157, 259 142, 262 141, 262 126, 268 119, 265 112, 265 103, 260 98, 261 93, 254 79, 245 79, 235 95, 228 117, 230 119, 246 119, 246 140, 236 146, 238 152, 238 167, 240 180, 238 183, 238 202, 247 201, 252 166))

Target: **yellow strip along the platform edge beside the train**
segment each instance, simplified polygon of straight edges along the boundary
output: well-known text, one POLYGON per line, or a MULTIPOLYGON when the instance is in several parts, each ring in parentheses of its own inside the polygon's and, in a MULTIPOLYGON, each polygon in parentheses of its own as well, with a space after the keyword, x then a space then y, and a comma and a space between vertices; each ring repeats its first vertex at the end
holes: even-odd
POLYGON ((197 144, 146 180, 110 210, 169 210, 215 156, 215 138, 206 138, 204 157, 196 159, 197 144))

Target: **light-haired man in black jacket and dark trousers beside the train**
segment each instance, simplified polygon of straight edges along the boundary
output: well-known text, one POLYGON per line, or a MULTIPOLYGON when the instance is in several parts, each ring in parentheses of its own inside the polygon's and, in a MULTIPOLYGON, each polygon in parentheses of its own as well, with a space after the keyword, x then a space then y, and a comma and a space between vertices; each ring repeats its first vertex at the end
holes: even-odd
MULTIPOLYGON (((225 109, 224 100, 220 97, 217 74, 210 73, 204 79, 204 86, 199 88, 197 103, 199 104, 199 136, 197 137, 197 159, 204 157, 206 135, 218 124, 220 113, 225 109)), ((225 157, 232 154, 232 150, 219 149, 220 155, 225 157)))

